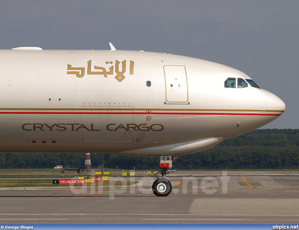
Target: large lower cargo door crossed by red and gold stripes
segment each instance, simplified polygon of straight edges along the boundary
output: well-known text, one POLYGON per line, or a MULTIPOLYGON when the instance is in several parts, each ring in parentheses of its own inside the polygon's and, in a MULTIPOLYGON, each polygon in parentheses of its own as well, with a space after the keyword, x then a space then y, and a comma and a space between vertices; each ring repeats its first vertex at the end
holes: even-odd
POLYGON ((133 105, 131 103, 83 103, 81 127, 83 143, 132 144, 133 105))

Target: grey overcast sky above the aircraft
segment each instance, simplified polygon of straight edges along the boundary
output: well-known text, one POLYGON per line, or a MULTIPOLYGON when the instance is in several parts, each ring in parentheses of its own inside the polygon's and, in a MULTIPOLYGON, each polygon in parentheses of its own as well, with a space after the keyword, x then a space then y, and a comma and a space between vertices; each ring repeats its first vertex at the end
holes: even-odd
POLYGON ((299 128, 299 1, 0 1, 0 49, 145 50, 218 62, 286 103, 299 128))

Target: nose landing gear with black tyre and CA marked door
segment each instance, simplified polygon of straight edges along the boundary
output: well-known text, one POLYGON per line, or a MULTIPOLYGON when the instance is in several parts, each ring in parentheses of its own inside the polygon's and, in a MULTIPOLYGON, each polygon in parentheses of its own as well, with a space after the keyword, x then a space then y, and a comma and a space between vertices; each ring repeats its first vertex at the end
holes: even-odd
POLYGON ((172 156, 160 157, 161 170, 158 172, 158 174, 161 173, 162 177, 159 178, 157 174, 154 174, 155 177, 157 177, 157 180, 155 180, 155 182, 152 184, 152 191, 157 197, 166 197, 172 190, 170 181, 166 179, 166 174, 175 172, 175 170, 170 170, 170 168, 172 167, 172 160, 172 156))

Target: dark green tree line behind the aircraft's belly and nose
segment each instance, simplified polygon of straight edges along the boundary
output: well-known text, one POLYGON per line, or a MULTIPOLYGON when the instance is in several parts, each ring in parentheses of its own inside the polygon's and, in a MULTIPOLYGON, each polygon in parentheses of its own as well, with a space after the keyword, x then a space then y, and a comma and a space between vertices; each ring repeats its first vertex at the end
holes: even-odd
MULTIPOLYGON (((119 169, 157 169, 159 158, 91 153, 91 165, 119 169)), ((0 154, 0 168, 53 168, 69 163, 84 167, 85 154, 0 154)), ((208 150, 179 156, 176 169, 294 169, 299 168, 299 129, 257 129, 222 141, 208 150)))

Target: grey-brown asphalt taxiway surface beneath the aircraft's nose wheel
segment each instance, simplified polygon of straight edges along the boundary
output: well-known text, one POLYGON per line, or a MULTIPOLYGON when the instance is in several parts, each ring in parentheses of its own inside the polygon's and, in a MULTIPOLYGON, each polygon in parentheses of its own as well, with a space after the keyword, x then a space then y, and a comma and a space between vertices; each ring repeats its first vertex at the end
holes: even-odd
POLYGON ((112 177, 120 186, 0 188, 0 224, 299 223, 298 172, 189 173, 168 177, 168 197, 152 193, 151 177, 112 177), (129 179, 138 183, 127 186, 129 179))

